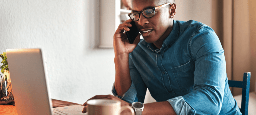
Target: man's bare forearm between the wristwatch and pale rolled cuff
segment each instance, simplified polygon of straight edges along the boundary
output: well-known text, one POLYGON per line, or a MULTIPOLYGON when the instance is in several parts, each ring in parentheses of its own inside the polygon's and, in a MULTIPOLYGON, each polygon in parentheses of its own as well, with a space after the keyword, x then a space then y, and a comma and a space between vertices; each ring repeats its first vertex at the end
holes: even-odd
POLYGON ((144 104, 142 115, 176 115, 168 101, 144 104))

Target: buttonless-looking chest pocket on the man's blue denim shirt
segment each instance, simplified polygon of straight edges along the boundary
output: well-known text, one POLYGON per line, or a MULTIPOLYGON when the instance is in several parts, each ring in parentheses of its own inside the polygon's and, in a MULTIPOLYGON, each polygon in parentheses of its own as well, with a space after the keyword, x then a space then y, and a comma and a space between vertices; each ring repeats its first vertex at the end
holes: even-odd
POLYGON ((195 64, 192 60, 184 65, 172 68, 172 71, 182 92, 193 90, 195 64))

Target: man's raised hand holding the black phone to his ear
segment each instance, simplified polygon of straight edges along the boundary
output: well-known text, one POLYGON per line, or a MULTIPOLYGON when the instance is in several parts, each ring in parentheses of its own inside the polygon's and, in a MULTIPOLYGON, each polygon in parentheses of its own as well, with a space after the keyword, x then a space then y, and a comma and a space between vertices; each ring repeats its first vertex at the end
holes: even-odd
POLYGON ((128 55, 135 49, 135 47, 140 42, 140 34, 138 34, 133 44, 129 43, 129 40, 127 39, 126 33, 124 33, 124 31, 130 30, 128 28, 132 27, 132 24, 130 24, 130 22, 132 22, 131 19, 126 20, 123 24, 120 24, 114 34, 115 56, 128 55))

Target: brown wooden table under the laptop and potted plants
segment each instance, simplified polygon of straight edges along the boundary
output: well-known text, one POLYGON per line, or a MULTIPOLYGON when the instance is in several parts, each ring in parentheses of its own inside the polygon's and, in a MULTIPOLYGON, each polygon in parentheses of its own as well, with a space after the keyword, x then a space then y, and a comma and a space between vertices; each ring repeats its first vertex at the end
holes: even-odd
MULTIPOLYGON (((81 105, 81 104, 52 99, 53 108, 71 106, 71 105, 81 105)), ((14 106, 14 103, 0 105, 0 115, 18 115, 16 107, 14 106)))

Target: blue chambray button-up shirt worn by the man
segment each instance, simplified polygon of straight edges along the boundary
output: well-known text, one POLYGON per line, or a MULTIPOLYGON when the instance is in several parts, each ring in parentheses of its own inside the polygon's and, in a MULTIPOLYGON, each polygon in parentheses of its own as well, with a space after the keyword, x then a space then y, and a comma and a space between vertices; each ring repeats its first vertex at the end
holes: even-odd
POLYGON ((118 96, 144 103, 147 88, 177 115, 241 115, 226 75, 224 50, 215 32, 193 20, 175 21, 160 50, 141 40, 129 54, 132 85, 118 96))

